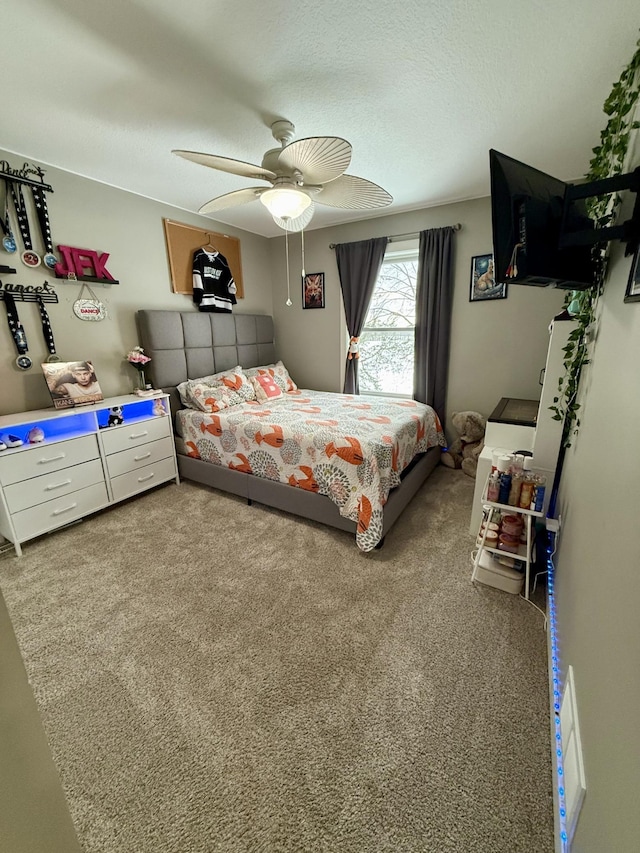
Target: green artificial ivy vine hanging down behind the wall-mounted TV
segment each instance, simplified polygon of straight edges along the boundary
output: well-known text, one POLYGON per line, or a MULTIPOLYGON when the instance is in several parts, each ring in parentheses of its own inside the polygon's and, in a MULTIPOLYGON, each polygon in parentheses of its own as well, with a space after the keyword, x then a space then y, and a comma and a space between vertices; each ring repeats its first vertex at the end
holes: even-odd
MULTIPOLYGON (((587 181, 597 181, 610 178, 623 172, 631 131, 640 127, 640 122, 634 120, 638 95, 640 94, 640 40, 636 42, 636 52, 631 62, 620 75, 620 79, 611 90, 604 102, 603 110, 609 116, 606 127, 600 134, 600 145, 593 149, 590 170, 585 175, 587 181)), ((611 225, 616 217, 620 196, 612 193, 606 196, 596 196, 589 199, 587 209, 594 220, 595 228, 605 228, 611 225)), ((596 316, 598 297, 602 293, 607 272, 608 244, 594 246, 594 287, 580 292, 573 291, 567 295, 565 307, 569 309, 576 327, 569 335, 564 347, 564 376, 558 380, 558 396, 553 398, 551 411, 553 419, 564 420, 562 443, 564 447, 571 446, 571 439, 578 432, 580 419, 578 410, 580 403, 576 402, 582 368, 589 364, 588 346, 590 332, 593 329, 596 316)))

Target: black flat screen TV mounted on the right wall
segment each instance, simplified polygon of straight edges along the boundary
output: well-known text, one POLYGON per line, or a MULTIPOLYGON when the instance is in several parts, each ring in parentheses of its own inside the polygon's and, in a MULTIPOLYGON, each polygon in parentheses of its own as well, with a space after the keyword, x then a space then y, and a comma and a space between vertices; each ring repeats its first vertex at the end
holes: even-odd
MULTIPOLYGON (((491 149, 491 219, 497 282, 586 290, 594 286, 592 247, 561 248, 568 184, 491 149)), ((593 229, 583 200, 565 213, 565 229, 593 229)))

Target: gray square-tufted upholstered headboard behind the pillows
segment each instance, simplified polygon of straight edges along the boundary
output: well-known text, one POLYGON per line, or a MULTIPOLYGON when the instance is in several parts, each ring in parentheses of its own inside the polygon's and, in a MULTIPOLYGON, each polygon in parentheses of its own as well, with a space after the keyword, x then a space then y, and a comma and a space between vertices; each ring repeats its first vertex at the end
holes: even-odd
POLYGON ((171 394, 174 413, 181 407, 176 386, 185 379, 276 360, 273 319, 263 314, 143 310, 136 320, 140 345, 151 358, 149 378, 171 394))

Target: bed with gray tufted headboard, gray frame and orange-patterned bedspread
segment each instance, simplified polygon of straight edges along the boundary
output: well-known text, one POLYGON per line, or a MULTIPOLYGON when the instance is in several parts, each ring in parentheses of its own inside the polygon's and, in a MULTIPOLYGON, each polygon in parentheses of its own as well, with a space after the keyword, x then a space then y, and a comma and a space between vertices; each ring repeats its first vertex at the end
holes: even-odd
POLYGON ((189 380, 277 363, 269 316, 143 310, 137 323, 150 378, 170 395, 185 479, 347 530, 370 551, 440 459, 437 416, 411 400, 295 387, 222 411, 187 409, 178 386, 189 380))

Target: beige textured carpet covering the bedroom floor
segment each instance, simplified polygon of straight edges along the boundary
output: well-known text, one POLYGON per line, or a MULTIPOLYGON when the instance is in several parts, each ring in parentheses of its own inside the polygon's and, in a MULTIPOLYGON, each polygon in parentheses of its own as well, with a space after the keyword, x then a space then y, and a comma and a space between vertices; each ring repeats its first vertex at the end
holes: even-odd
POLYGON ((473 485, 371 554, 185 482, 0 560, 86 851, 552 851, 542 617, 470 582, 473 485))

